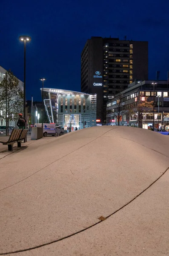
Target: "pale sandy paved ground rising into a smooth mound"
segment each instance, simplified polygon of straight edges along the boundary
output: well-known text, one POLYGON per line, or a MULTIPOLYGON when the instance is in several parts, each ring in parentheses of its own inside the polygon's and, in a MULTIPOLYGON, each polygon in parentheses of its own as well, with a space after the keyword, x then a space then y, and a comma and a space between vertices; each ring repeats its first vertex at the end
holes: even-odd
POLYGON ((96 126, 23 145, 0 145, 0 255, 169 255, 169 136, 96 126))

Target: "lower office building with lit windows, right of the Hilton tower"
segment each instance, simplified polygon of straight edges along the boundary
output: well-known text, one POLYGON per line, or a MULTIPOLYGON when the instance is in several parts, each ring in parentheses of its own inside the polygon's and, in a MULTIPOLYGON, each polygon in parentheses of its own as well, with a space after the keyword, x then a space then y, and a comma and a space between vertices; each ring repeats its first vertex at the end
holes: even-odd
MULTIPOLYGON (((139 127, 139 122, 137 119, 137 104, 138 100, 141 99, 142 102, 146 100, 153 102, 155 105, 155 117, 153 116, 153 109, 151 111, 143 111, 142 114, 142 128, 148 129, 153 126, 153 119, 155 118, 155 128, 165 128, 169 130, 169 84, 167 81, 140 81, 133 82, 128 85, 126 90, 120 93, 121 111, 120 125, 129 125, 133 127, 139 127), (155 88, 154 88, 155 87, 155 88), (155 97, 154 95, 155 90, 155 97), (139 98, 140 97, 140 98, 139 98), (133 109, 132 115, 129 113, 133 109)), ((117 100, 117 99, 116 99, 117 100)), ((107 102, 106 107, 106 119, 108 125, 118 125, 117 116, 115 112, 117 109, 117 104, 115 99, 111 99, 107 102)))

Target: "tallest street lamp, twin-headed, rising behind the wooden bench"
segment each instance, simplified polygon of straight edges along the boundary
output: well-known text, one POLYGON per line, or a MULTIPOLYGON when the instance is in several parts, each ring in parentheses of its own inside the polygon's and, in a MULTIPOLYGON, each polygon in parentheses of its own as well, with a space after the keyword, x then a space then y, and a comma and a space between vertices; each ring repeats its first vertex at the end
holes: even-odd
MULTIPOLYGON (((23 99, 23 114, 24 117, 26 118, 26 42, 30 42, 31 41, 31 37, 28 35, 21 35, 19 37, 19 40, 22 42, 24 42, 24 89, 23 89, 23 93, 24 93, 24 99, 23 99)), ((24 142, 27 141, 27 137, 24 139, 24 142)))

